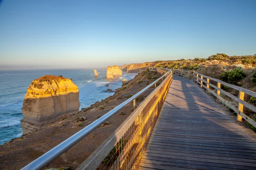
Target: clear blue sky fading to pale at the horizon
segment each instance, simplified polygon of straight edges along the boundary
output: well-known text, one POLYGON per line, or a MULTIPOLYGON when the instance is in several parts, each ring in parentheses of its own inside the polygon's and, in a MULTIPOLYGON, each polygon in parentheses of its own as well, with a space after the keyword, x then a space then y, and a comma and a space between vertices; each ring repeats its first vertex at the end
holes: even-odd
POLYGON ((256 0, 0 3, 2 68, 99 68, 216 53, 256 53, 256 0))

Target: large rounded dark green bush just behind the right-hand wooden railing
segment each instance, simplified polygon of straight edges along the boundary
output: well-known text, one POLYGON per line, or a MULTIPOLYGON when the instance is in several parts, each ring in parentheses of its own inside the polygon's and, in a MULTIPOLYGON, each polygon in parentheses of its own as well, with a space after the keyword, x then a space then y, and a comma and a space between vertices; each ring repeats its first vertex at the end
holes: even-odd
POLYGON ((244 73, 243 70, 241 70, 241 68, 236 68, 232 71, 225 71, 222 74, 219 75, 219 77, 225 81, 225 82, 229 82, 233 85, 238 85, 238 81, 245 78, 246 74, 244 73))

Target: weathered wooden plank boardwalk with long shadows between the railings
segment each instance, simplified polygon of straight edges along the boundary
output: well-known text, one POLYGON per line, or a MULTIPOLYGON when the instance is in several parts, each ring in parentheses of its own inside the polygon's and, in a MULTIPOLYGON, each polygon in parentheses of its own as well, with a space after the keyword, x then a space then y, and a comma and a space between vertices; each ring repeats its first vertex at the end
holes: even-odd
POLYGON ((256 134, 192 80, 173 76, 140 170, 256 170, 256 134))

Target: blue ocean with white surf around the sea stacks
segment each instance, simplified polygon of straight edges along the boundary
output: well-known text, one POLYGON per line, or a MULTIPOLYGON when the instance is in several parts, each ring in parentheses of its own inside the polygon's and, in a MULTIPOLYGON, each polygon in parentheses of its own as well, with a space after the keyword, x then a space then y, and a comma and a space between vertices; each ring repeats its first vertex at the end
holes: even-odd
POLYGON ((97 69, 98 78, 94 78, 93 69, 62 69, 62 70, 21 70, 0 71, 0 144, 20 137, 22 129, 23 99, 32 80, 44 75, 55 75, 72 79, 79 88, 81 108, 101 101, 114 93, 103 92, 110 88, 115 90, 122 86, 122 79, 133 79, 136 74, 125 73, 112 81, 105 80, 106 69, 97 69), (105 85, 109 85, 106 87, 105 85))

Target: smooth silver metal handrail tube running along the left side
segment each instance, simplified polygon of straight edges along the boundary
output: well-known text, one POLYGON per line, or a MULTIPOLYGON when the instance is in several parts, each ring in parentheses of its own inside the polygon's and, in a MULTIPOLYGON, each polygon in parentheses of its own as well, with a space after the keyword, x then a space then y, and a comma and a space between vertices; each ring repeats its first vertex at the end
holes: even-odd
POLYGON ((162 80, 162 78, 166 77, 171 73, 171 70, 169 70, 166 74, 164 74, 159 79, 152 82, 147 87, 143 88, 140 92, 132 96, 131 98, 127 99, 125 102, 122 102, 120 105, 118 105, 116 108, 113 108, 113 110, 109 111, 96 121, 92 122, 87 127, 84 127, 82 130, 71 136, 70 138, 66 139, 64 142, 58 144, 51 150, 49 150, 47 153, 44 153, 44 155, 40 156, 38 159, 35 159, 30 164, 23 167, 21 170, 41 170, 44 167, 46 167, 49 163, 57 159, 59 156, 61 156, 64 152, 69 150, 71 147, 73 147, 76 143, 84 139, 88 134, 90 134, 93 130, 98 128, 102 123, 106 122, 111 116, 113 116, 116 112, 120 111, 122 108, 124 108, 126 105, 131 103, 133 100, 135 100, 138 96, 143 94, 148 88, 155 85, 158 81, 162 80))

